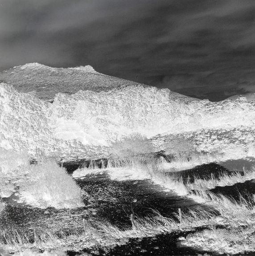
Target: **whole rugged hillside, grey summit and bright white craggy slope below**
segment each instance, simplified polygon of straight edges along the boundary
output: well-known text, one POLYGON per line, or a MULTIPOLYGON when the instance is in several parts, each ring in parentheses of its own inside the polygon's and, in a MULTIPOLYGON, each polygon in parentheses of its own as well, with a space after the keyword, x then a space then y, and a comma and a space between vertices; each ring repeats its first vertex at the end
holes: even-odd
POLYGON ((243 97, 200 101, 88 66, 32 63, 2 72, 0 80, 8 82, 0 84, 0 147, 7 150, 97 158, 132 133, 154 138, 161 149, 168 134, 183 134, 200 151, 239 145, 252 152, 255 141, 255 101, 243 97))

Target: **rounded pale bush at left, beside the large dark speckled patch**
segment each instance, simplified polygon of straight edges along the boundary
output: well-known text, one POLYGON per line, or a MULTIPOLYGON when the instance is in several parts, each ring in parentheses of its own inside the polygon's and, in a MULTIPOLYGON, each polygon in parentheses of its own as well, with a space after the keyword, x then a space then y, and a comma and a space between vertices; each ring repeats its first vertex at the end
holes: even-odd
POLYGON ((28 165, 24 173, 26 180, 20 185, 20 193, 29 203, 56 208, 81 206, 80 188, 57 163, 47 160, 28 165))

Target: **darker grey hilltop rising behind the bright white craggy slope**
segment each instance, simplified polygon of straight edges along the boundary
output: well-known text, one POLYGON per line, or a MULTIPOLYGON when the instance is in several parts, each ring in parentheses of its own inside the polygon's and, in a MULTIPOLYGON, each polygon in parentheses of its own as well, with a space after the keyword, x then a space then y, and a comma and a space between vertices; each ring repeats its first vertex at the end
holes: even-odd
MULTIPOLYGON (((134 81, 107 76, 94 70, 90 65, 80 67, 57 68, 39 63, 28 63, 0 72, 0 81, 12 86, 18 92, 36 92, 42 100, 52 102, 57 93, 74 94, 79 90, 107 92, 111 89, 128 86, 143 86, 134 81)), ((196 100, 176 92, 176 97, 196 100)))

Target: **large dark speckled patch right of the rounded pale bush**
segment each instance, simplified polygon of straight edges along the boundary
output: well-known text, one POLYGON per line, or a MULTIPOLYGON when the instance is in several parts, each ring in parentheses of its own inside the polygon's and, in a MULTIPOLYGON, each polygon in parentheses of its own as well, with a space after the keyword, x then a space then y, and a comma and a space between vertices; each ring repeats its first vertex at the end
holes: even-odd
MULTIPOLYGON (((199 204, 188 197, 181 197, 172 191, 164 191, 151 180, 111 180, 106 173, 87 175, 78 179, 78 185, 85 196, 88 208, 96 210, 98 218, 106 219, 117 226, 131 225, 130 215, 145 217, 155 214, 175 218, 178 208, 186 211, 199 204)), ((205 210, 211 210, 206 206, 205 210)))

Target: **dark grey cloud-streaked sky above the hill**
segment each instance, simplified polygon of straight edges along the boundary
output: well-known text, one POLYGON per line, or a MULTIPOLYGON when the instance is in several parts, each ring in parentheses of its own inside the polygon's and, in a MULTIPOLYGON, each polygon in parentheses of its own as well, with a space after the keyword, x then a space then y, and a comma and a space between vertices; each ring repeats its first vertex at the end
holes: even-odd
POLYGON ((31 62, 211 101, 255 92, 255 0, 0 0, 0 71, 31 62))

